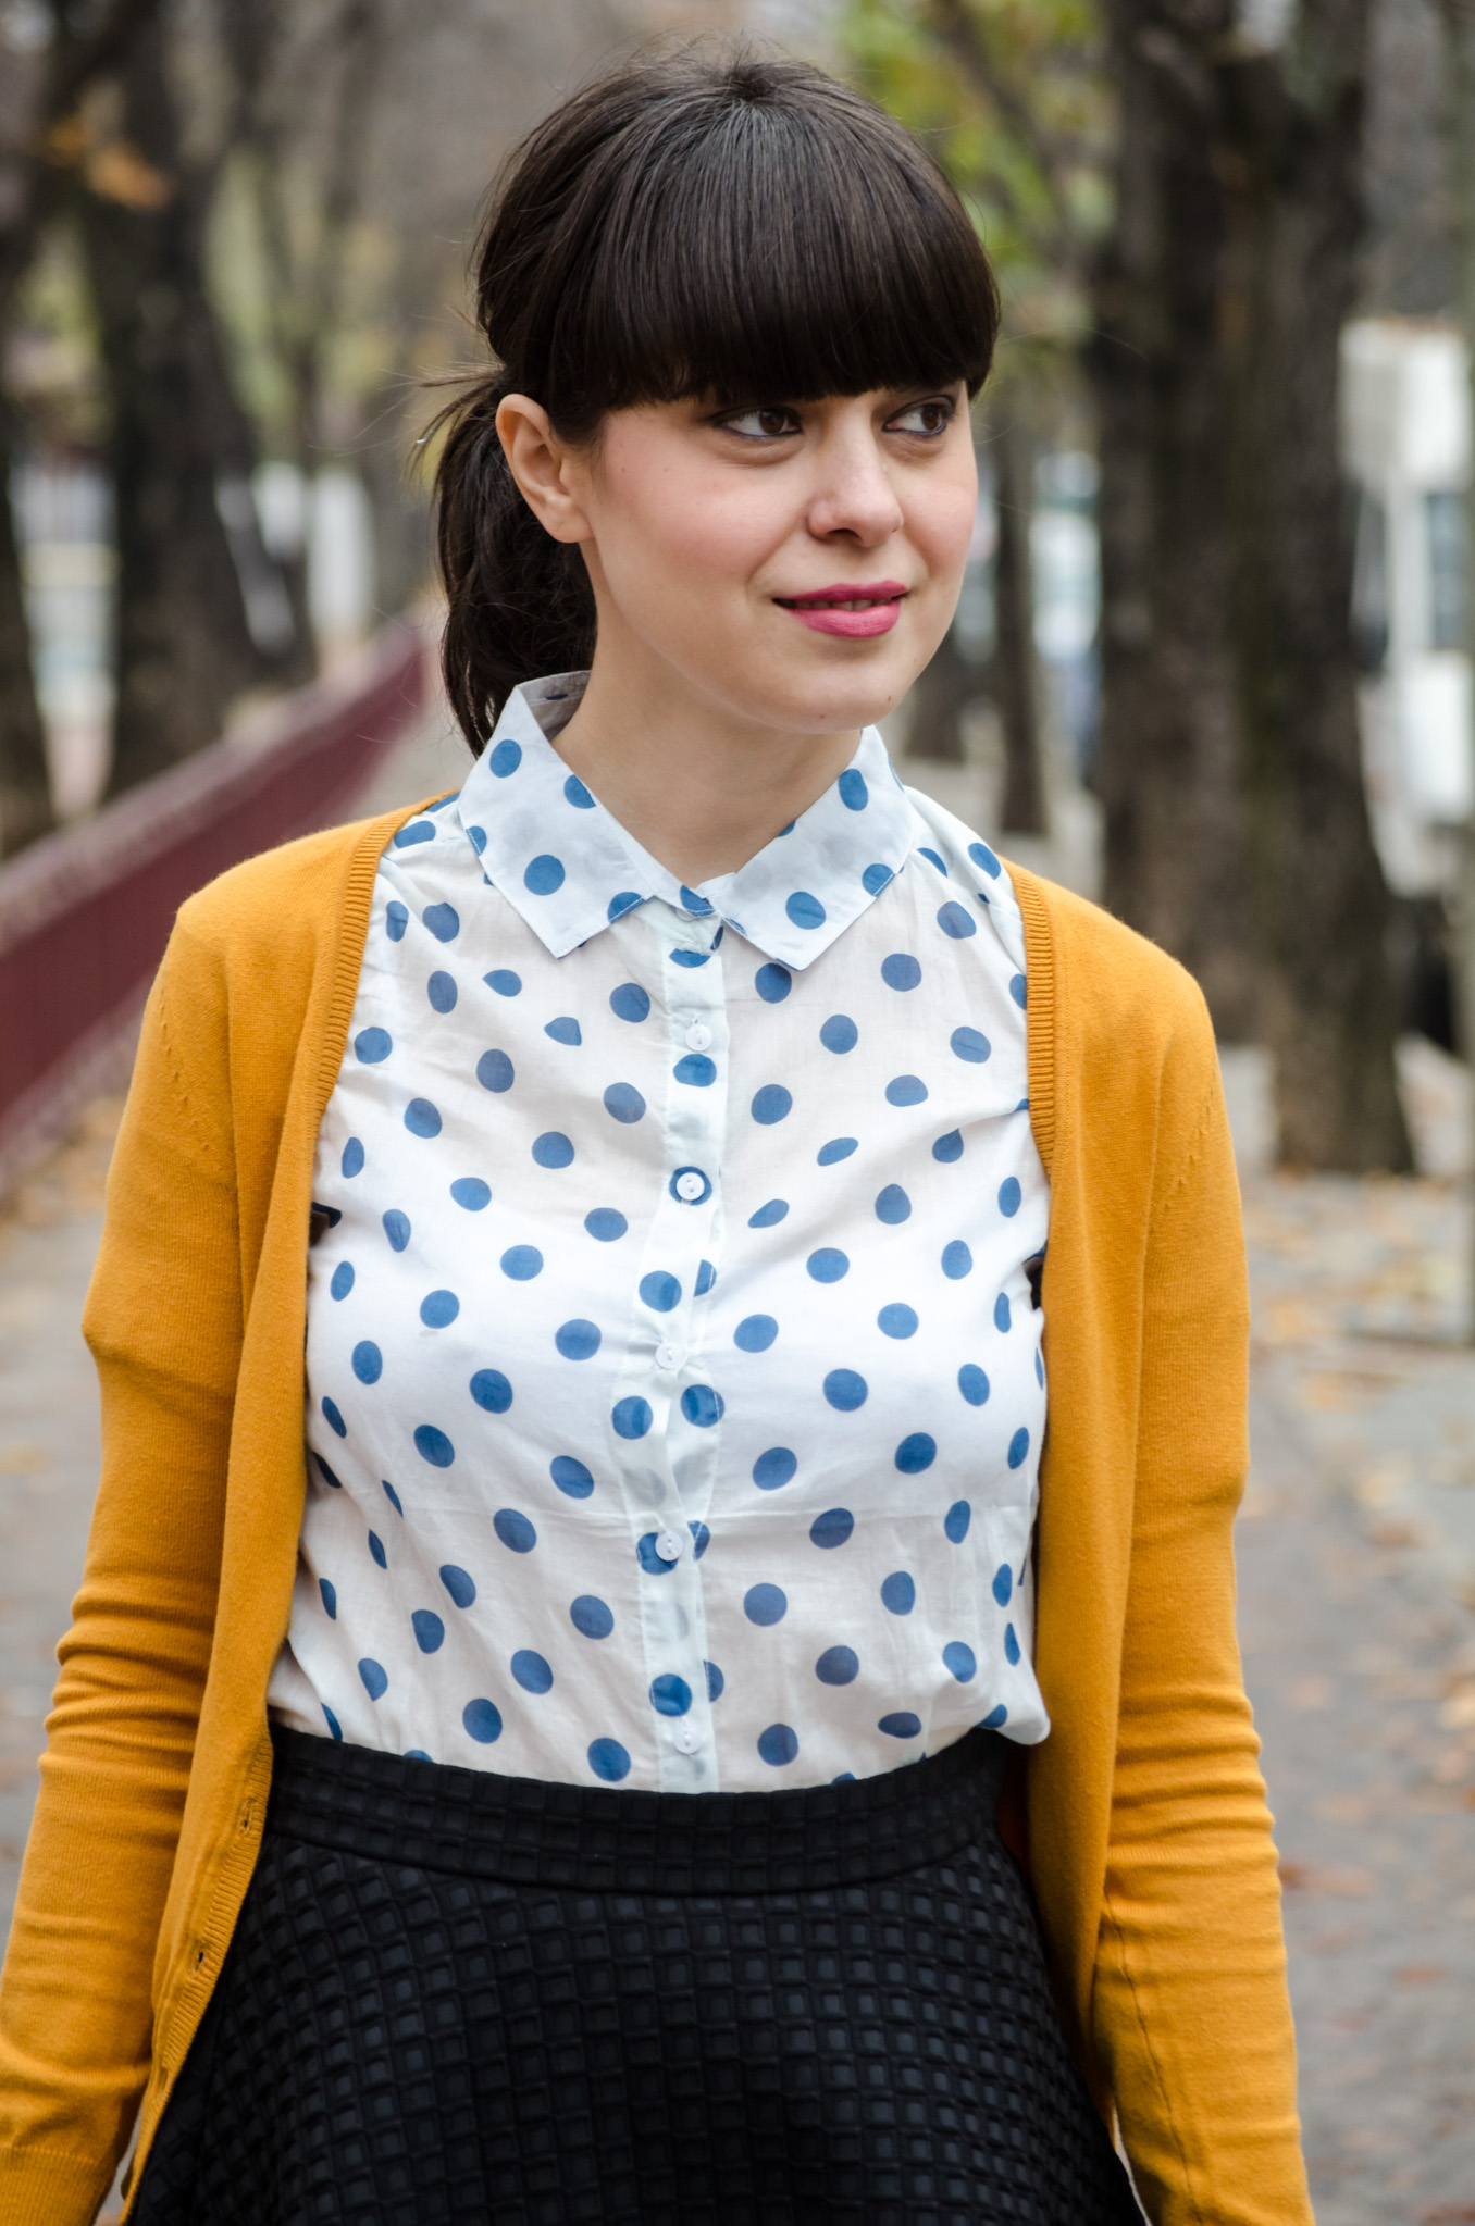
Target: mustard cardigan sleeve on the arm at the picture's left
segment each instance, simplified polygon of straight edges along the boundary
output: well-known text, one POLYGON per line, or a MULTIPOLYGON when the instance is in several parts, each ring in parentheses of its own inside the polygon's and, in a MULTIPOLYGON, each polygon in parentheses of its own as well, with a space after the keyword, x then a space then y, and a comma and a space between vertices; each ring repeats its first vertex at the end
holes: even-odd
POLYGON ((149 2072, 241 1356, 225 999, 176 928, 107 1184, 85 1336, 102 1476, 0 1986, 0 2215, 82 2226, 149 2072))

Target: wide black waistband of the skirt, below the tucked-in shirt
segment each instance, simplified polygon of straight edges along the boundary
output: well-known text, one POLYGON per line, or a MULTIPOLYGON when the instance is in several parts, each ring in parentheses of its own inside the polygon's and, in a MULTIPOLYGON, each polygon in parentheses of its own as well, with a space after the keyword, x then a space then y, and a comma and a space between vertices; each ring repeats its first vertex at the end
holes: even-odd
POLYGON ((876 1779, 660 1794, 504 1779, 272 1725, 267 1830, 510 1885, 775 1894, 942 1861, 994 1828, 1007 1741, 974 1730, 876 1779))

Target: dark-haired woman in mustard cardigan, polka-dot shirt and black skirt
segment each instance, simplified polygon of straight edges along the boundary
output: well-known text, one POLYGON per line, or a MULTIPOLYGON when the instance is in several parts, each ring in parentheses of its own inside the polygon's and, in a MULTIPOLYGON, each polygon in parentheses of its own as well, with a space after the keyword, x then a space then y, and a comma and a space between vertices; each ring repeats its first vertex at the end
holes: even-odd
POLYGON ((1154 2219, 1308 2219, 1208 1020, 873 728, 983 252, 853 93, 677 56, 479 256, 477 764, 225 875, 149 1006, 4 2217, 143 2101, 147 2226, 1114 2226, 1112 2126, 1154 2219))

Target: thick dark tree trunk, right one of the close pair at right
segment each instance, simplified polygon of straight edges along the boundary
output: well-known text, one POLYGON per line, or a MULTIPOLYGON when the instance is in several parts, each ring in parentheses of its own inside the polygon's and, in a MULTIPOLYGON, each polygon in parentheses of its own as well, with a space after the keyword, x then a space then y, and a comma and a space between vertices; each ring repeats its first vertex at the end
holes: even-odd
POLYGON ((1357 723, 1339 349, 1364 236, 1368 0, 1301 0, 1228 62, 1237 347, 1232 634, 1288 1162, 1408 1169, 1388 893, 1357 723))

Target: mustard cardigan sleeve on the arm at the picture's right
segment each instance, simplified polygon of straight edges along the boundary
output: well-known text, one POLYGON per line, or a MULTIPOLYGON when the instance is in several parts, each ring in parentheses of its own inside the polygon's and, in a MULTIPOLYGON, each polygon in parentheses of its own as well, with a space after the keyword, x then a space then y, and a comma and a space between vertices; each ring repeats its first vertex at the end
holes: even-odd
POLYGON ((1234 1632, 1248 1296, 1205 1015, 1170 1046, 1163 1093, 1092 2037, 1159 2226, 1310 2226, 1277 1852, 1234 1632))

